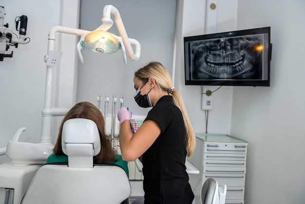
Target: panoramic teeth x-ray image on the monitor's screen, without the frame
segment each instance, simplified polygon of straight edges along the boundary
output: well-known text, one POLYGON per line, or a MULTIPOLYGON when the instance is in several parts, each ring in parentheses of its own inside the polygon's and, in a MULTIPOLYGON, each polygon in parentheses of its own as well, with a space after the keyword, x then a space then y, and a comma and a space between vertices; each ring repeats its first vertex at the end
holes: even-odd
POLYGON ((263 35, 191 42, 192 80, 263 79, 263 35))

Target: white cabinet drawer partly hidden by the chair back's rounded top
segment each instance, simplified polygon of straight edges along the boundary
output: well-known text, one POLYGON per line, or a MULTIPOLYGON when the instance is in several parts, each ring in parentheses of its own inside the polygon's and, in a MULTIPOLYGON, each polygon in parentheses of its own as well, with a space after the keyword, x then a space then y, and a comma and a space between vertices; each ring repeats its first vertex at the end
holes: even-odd
POLYGON ((246 174, 216 174, 216 173, 204 173, 202 180, 203 183, 209 179, 213 178, 218 182, 219 186, 226 184, 227 186, 245 186, 246 174))

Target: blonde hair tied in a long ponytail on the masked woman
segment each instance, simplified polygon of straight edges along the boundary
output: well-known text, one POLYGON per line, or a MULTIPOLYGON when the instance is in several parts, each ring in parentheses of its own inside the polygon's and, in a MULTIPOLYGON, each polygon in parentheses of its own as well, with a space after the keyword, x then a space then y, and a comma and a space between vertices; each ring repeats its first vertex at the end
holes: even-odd
MULTIPOLYGON (((134 73, 134 77, 142 82, 147 82, 149 78, 153 78, 158 87, 164 91, 170 92, 172 88, 172 78, 167 69, 157 61, 150 62, 144 67, 138 69, 134 73)), ((190 157, 195 149, 195 133, 191 125, 187 109, 183 102, 182 96, 177 90, 171 90, 173 102, 181 110, 183 121, 187 132, 187 156, 190 157)))

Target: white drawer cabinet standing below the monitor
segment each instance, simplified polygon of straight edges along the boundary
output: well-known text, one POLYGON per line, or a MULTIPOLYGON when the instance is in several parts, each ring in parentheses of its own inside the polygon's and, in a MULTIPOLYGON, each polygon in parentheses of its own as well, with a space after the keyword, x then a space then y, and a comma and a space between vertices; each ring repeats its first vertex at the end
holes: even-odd
POLYGON ((227 185, 226 204, 244 204, 247 146, 229 135, 196 134, 196 148, 188 159, 200 171, 190 177, 196 204, 201 204, 201 187, 208 178, 227 185))

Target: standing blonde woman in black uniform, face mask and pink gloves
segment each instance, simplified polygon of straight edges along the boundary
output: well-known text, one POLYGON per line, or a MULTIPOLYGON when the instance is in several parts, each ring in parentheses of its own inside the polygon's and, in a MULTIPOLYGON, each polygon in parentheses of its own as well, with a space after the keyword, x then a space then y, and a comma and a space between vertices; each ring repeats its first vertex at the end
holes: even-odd
POLYGON ((134 73, 135 102, 152 107, 133 134, 132 112, 121 108, 119 142, 122 158, 143 164, 145 204, 191 204, 194 194, 186 172, 186 157, 195 148, 195 134, 181 95, 159 62, 134 73))

